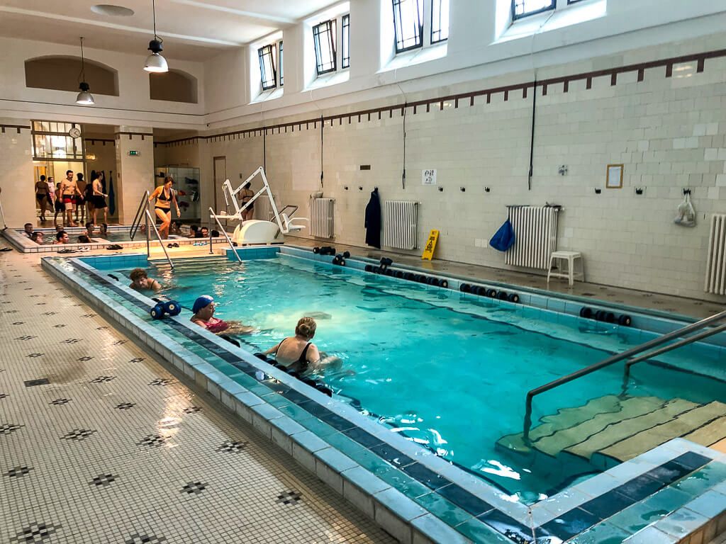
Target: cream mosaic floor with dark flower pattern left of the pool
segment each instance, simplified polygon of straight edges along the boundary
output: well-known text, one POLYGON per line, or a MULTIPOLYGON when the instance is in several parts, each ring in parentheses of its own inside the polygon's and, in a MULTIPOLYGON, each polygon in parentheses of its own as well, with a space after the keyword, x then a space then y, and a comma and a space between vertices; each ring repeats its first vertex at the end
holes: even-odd
POLYGON ((38 263, 0 254, 0 543, 394 542, 38 263))

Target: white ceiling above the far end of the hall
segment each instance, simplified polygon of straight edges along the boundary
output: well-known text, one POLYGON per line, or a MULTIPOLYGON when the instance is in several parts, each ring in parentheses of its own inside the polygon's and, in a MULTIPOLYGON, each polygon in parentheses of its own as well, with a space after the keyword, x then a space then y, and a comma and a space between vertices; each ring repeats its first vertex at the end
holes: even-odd
MULTIPOLYGON (((157 0, 156 30, 170 59, 205 60, 292 25, 331 0, 157 0)), ((0 36, 144 54, 152 39, 151 0, 0 0, 0 36), (134 10, 131 17, 91 11, 95 4, 134 10)))

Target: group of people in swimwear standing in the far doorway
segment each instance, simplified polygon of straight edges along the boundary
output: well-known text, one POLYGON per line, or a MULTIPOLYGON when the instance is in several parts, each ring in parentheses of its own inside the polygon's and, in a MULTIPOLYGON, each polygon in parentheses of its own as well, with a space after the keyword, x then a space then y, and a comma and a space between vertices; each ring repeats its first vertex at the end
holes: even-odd
POLYGON ((107 194, 103 192, 103 172, 96 173, 91 183, 83 179, 78 172, 73 178, 73 170, 66 170, 65 179, 55 183, 53 176, 41 176, 36 182, 35 192, 38 207, 41 210, 41 222, 47 221, 46 213, 54 211, 54 223, 58 223, 61 215, 62 223, 67 227, 78 226, 88 218, 97 222, 99 210, 103 212, 103 222, 107 223, 107 194), (74 221, 75 214, 75 221, 74 221))

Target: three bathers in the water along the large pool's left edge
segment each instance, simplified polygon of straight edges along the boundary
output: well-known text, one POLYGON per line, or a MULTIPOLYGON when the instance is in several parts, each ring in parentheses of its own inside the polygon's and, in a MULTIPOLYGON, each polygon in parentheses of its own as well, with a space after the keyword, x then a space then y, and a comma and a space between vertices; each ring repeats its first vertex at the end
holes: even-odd
MULTIPOLYGON (((129 287, 136 291, 157 292, 162 288, 159 281, 149 278, 143 268, 134 268, 129 277, 131 278, 129 287)), ((214 334, 249 334, 255 330, 254 327, 239 321, 224 321, 214 317, 215 309, 216 304, 213 297, 208 294, 198 297, 192 305, 192 323, 214 334)), ((298 374, 338 360, 325 354, 321 355, 317 346, 312 343, 315 329, 317 329, 317 323, 313 318, 301 318, 295 326, 295 336, 282 339, 264 355, 274 355, 275 361, 279 365, 298 374)))

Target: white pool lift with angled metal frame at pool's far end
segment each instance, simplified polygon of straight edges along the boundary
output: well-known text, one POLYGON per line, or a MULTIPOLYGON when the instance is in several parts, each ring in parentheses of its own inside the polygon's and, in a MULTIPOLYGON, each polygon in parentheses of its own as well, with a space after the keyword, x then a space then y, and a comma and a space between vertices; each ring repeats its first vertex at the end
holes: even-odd
POLYGON ((255 170, 252 175, 247 178, 245 181, 240 184, 237 189, 232 189, 232 183, 230 183, 229 179, 224 180, 224 183, 222 184, 222 193, 224 194, 224 202, 227 204, 227 211, 229 212, 229 201, 232 201, 232 206, 234 206, 234 214, 229 215, 229 213, 219 213, 219 214, 211 214, 211 218, 216 220, 227 220, 230 219, 232 221, 237 220, 240 221, 240 224, 237 225, 237 227, 234 228, 234 234, 232 234, 232 242, 236 243, 238 246, 242 245, 249 245, 249 244, 282 244, 282 237, 281 234, 290 234, 291 232, 297 232, 301 231, 303 228, 305 228, 305 225, 299 223, 299 222, 306 222, 308 221, 307 218, 290 218, 285 213, 285 210, 287 208, 292 208, 292 211, 290 214, 294 214, 295 211, 298 209, 297 206, 294 205, 287 205, 284 208, 282 208, 282 211, 277 210, 277 204, 274 202, 274 197, 272 196, 272 190, 270 189, 269 183, 267 181, 267 176, 265 176, 265 170, 262 167, 259 167, 257 170, 255 170), (240 203, 237 202, 237 194, 242 191, 242 189, 245 188, 250 182, 255 178, 255 176, 259 176, 262 178, 262 189, 256 192, 252 198, 248 202, 245 202, 245 205, 240 207, 240 203), (258 197, 261 197, 263 194, 267 194, 267 197, 269 198, 270 207, 272 208, 272 215, 274 215, 274 221, 264 221, 261 219, 249 219, 248 221, 242 221, 242 212, 248 209, 248 207, 251 207, 255 200, 258 197))

